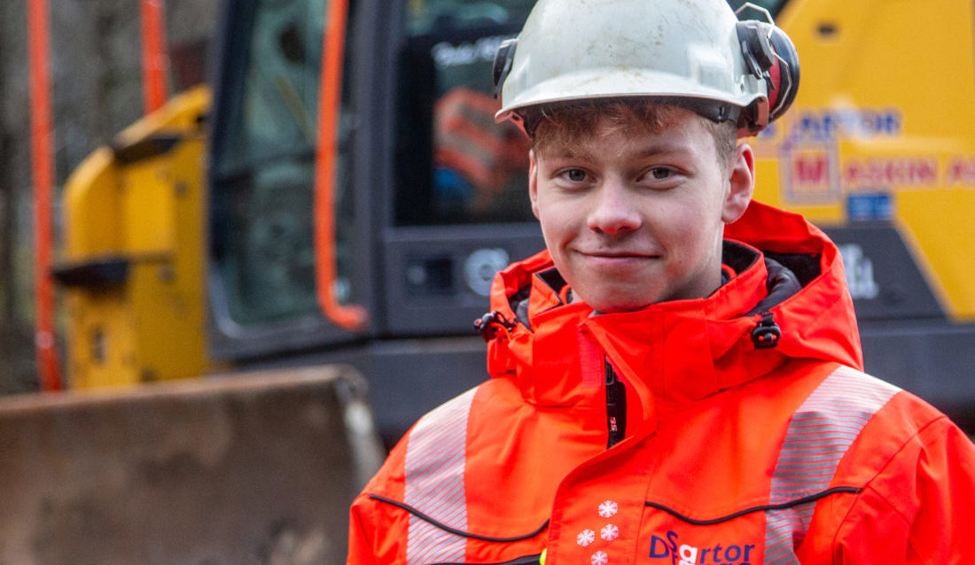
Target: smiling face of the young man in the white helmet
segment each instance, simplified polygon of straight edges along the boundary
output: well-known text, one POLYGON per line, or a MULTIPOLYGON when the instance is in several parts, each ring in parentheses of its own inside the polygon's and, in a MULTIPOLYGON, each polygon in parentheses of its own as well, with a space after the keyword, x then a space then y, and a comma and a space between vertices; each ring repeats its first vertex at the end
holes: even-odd
POLYGON ((604 122, 533 154, 531 207, 556 267, 605 313, 700 298, 721 284, 724 223, 751 200, 754 158, 727 166, 701 118, 668 108, 659 132, 604 122), (636 131, 642 131, 636 128, 636 131))

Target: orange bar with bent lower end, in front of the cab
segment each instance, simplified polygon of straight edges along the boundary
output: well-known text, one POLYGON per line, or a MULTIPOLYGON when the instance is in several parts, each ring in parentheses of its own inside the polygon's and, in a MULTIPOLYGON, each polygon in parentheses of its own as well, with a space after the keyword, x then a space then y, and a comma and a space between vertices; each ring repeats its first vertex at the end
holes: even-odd
POLYGON ((348 8, 348 0, 329 2, 322 45, 315 151, 315 282, 318 303, 325 317, 355 331, 365 327, 369 313, 359 305, 342 306, 335 297, 335 158, 348 8))

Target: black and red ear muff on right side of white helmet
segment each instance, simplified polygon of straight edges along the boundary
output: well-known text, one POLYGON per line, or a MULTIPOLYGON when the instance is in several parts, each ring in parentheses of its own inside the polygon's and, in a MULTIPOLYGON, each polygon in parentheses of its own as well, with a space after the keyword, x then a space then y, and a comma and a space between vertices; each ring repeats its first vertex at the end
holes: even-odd
MULTIPOLYGON (((738 42, 749 72, 768 89, 768 122, 789 109, 799 92, 799 54, 785 31, 774 24, 746 20, 737 24, 738 42)), ((764 124, 750 123, 752 130, 764 124)))

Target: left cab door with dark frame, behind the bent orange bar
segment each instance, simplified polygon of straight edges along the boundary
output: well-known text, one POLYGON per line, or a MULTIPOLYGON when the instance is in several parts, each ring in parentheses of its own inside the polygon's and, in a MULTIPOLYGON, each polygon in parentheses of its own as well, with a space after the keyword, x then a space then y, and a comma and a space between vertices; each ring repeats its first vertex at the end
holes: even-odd
MULTIPOLYGON (((335 0, 339 1, 339 0, 335 0)), ((348 2, 348 0, 341 0, 348 2)), ((368 192, 352 174, 356 30, 365 2, 341 26, 344 72, 335 127, 333 217, 339 304, 370 304, 368 192)), ((315 151, 323 34, 331 2, 236 0, 222 15, 212 116, 210 271, 215 358, 280 355, 368 335, 323 316, 316 291, 315 151)), ((366 22, 368 23, 368 22, 366 22)), ((368 55, 368 54, 366 54, 368 55)))

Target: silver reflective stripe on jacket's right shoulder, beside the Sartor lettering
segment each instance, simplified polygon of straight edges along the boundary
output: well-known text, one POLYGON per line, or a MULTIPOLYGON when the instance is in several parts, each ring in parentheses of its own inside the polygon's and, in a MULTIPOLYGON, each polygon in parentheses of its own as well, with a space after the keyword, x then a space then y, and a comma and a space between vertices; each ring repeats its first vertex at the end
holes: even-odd
MULTIPOLYGON (((839 460, 867 422, 900 391, 870 375, 839 367, 802 402, 789 423, 772 473, 769 504, 829 488, 839 460)), ((793 547, 805 537, 814 502, 765 512, 765 563, 798 564, 793 547)))

